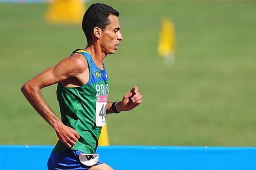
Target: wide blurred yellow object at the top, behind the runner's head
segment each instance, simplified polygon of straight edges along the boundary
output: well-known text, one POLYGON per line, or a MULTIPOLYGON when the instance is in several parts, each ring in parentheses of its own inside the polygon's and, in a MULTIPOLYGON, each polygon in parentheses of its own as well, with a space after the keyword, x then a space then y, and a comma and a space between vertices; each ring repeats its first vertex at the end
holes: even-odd
POLYGON ((85 12, 82 0, 54 0, 46 13, 46 20, 58 23, 81 23, 85 12))

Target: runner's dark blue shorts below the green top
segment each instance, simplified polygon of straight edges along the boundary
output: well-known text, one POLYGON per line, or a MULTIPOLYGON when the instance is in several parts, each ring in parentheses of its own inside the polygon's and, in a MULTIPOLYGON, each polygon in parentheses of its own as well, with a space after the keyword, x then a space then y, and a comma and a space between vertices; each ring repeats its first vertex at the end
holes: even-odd
MULTIPOLYGON (((72 169, 72 170, 88 170, 91 166, 82 164, 78 158, 81 151, 68 150, 65 152, 54 153, 52 152, 48 159, 48 169, 72 169)), ((95 165, 102 164, 104 162, 98 161, 95 165)))

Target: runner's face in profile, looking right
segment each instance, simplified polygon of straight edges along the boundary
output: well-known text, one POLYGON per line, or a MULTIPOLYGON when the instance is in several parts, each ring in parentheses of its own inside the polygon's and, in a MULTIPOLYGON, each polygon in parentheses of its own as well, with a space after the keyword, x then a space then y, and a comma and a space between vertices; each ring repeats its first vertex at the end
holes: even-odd
POLYGON ((106 26, 101 36, 101 48, 105 54, 114 54, 118 49, 120 41, 123 39, 120 32, 118 17, 109 16, 110 25, 106 26))

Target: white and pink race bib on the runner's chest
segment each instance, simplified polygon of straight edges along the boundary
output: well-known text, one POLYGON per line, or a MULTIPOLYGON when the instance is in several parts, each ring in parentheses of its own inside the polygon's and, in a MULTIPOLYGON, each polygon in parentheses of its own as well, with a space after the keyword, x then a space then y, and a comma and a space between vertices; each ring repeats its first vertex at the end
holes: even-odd
POLYGON ((108 95, 98 95, 96 101, 95 122, 97 127, 105 126, 106 123, 106 102, 108 95))

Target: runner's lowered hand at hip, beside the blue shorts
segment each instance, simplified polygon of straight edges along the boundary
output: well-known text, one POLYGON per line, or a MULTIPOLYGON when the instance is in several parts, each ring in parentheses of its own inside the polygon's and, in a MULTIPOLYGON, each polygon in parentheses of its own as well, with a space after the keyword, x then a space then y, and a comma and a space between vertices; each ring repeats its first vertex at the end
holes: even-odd
POLYGON ((68 148, 71 148, 73 145, 76 144, 80 135, 72 128, 61 125, 55 129, 55 132, 59 138, 68 148))

